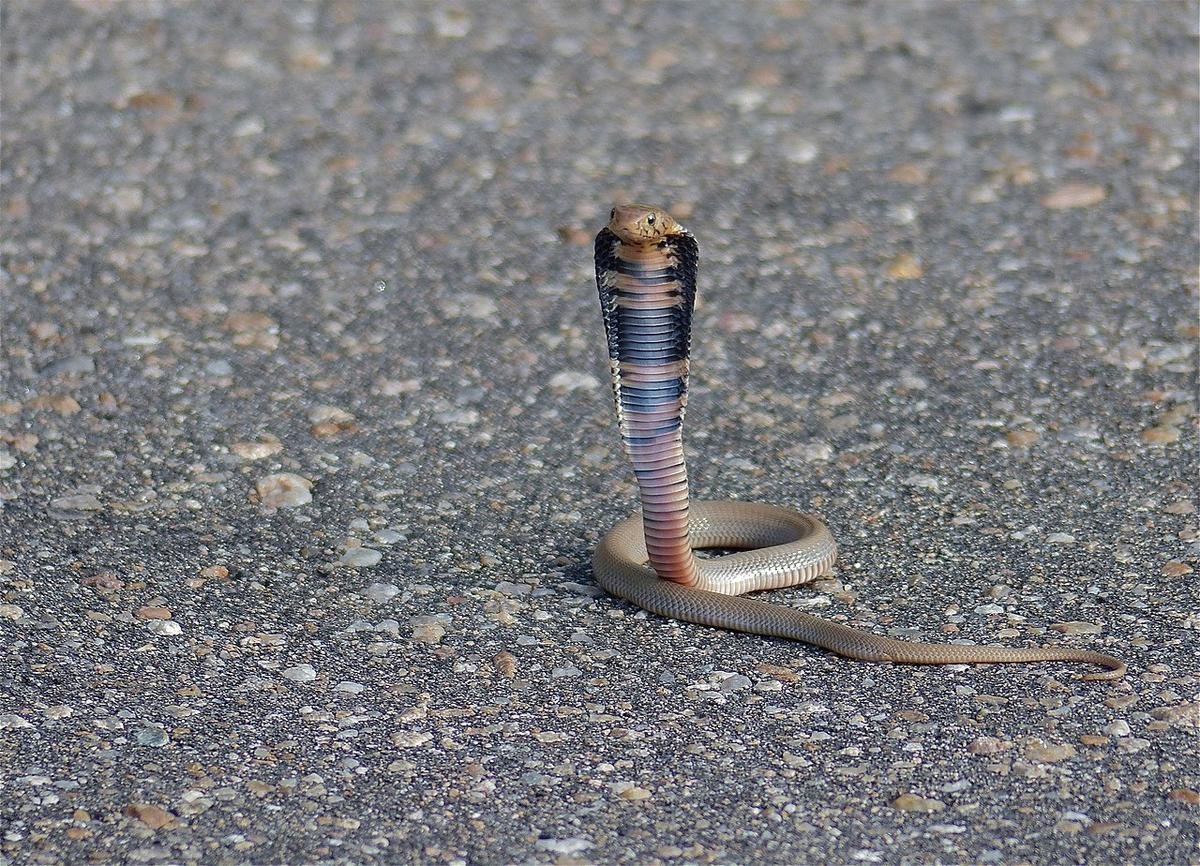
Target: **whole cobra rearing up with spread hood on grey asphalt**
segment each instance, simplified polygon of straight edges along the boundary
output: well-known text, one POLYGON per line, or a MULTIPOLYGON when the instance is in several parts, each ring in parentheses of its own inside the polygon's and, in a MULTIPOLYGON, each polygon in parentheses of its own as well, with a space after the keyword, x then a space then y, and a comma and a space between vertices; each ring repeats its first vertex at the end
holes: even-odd
POLYGON ((1080 662, 1104 668, 1087 680, 1124 676, 1124 662, 1088 649, 902 641, 746 597, 830 575, 838 546, 814 515, 689 498, 683 420, 698 264, 696 239, 654 205, 613 208, 595 239, 617 425, 641 499, 641 511, 617 523, 593 553, 606 593, 660 617, 799 641, 859 661, 1080 662), (696 555, 714 548, 732 552, 696 555))

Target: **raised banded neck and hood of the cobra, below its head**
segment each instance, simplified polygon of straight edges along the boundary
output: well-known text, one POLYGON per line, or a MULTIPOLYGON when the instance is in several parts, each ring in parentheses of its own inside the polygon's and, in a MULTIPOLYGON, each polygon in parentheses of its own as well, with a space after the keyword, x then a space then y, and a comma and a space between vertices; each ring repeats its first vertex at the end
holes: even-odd
POLYGON ((660 578, 692 585, 683 416, 695 259, 686 266, 668 242, 617 242, 607 264, 601 275, 598 253, 617 421, 641 493, 646 549, 660 578))

